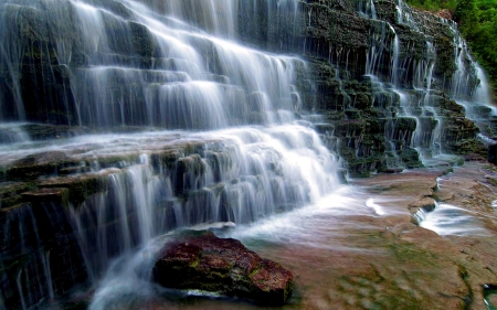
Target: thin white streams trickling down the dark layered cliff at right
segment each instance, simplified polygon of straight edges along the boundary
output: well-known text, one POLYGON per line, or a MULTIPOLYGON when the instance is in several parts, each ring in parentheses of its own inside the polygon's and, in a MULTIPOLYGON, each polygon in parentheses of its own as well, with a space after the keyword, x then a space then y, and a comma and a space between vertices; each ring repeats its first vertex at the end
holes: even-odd
MULTIPOLYGON (((426 21, 414 15, 414 12, 403 1, 398 1, 395 6, 394 25, 408 25, 414 33, 419 33, 425 28, 426 21)), ((385 108, 387 105, 390 105, 393 110, 398 110, 395 118, 404 118, 399 122, 390 119, 392 115, 385 115, 385 153, 394 154, 393 158, 387 157, 388 167, 402 167, 395 154, 405 147, 415 149, 425 165, 437 164, 440 159, 451 160, 452 156, 448 154, 451 150, 444 149, 447 138, 444 132, 445 116, 441 111, 440 99, 437 99, 440 93, 432 89, 432 84, 436 81, 437 87, 452 88, 454 98, 466 96, 473 92, 470 89, 474 85, 472 72, 466 65, 467 50, 462 46, 464 43, 455 30, 455 24, 436 17, 432 17, 432 19, 453 29, 457 71, 452 75, 448 85, 445 85, 445 82, 438 82, 440 76, 435 77, 438 53, 431 35, 425 36, 425 46, 421 47, 409 41, 401 42, 395 28, 388 22, 380 20, 378 23, 374 22, 374 26, 371 28, 373 33, 370 35, 371 43, 367 54, 366 74, 372 76, 372 83, 377 85, 373 87, 374 97, 385 97, 385 94, 389 93, 390 96, 396 97, 396 103, 374 99, 373 106, 380 104, 382 108, 385 108), (405 85, 412 85, 413 89, 409 89, 405 85), (411 120, 416 124, 415 130, 399 128, 399 124, 411 124, 411 120), (402 135, 411 131, 412 137, 399 139, 401 131, 402 135), (403 141, 403 145, 399 145, 396 141, 403 141), (405 145, 406 141, 409 145, 405 145)))

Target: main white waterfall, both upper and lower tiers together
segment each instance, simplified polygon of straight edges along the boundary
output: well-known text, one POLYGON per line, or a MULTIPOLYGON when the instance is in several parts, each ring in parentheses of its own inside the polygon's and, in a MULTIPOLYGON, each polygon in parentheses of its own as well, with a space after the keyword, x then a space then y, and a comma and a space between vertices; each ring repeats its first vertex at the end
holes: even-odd
MULTIPOLYGON (((305 74, 305 62, 241 45, 243 33, 262 30, 242 24, 239 12, 246 10, 272 21, 266 40, 288 39, 279 28, 287 17, 296 19, 298 1, 1 1, 0 64, 9 75, 0 86, 9 92, 0 97, 0 119, 55 116, 61 124, 98 130, 218 130, 82 136, 28 143, 17 153, 12 147, 19 143, 0 150, 4 163, 63 152, 80 162, 73 171, 81 174, 71 180, 99 180, 102 189, 68 206, 93 284, 114 259, 131 256, 165 232, 257 221, 317 202, 339 184, 337 160, 310 122, 294 124, 303 106, 296 78, 305 74), (13 18, 40 33, 4 31, 21 24, 13 18), (27 38, 36 49, 24 45, 27 38), (43 60, 33 67, 62 84, 62 97, 31 98, 21 92, 29 83, 20 63, 32 53, 43 60), (46 56, 54 64, 50 68, 46 56), (39 105, 39 116, 27 113, 32 104, 39 105), (109 164, 109 157, 117 162, 109 164)), ((53 90, 49 84, 34 86, 39 94, 53 90)), ((29 289, 20 271, 15 307, 53 298, 50 257, 43 256, 46 280, 40 296, 24 297, 29 289)), ((102 293, 105 287, 96 296, 102 293)), ((1 300, 15 304, 8 296, 1 300)))

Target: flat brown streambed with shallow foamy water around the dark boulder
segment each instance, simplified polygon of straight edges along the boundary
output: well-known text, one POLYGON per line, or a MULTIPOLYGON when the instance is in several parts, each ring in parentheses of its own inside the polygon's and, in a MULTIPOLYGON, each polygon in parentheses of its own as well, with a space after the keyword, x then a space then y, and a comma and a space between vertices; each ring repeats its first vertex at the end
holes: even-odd
MULTIPOLYGON (((487 168, 468 163, 448 174, 432 169, 353 180, 315 204, 216 234, 292 270, 294 296, 277 309, 485 309, 484 285, 496 281, 497 255, 496 189, 485 181, 487 168), (426 195, 458 205, 474 220, 466 227, 485 234, 437 234, 413 224, 409 209, 426 195)), ((89 309, 260 308, 159 289, 136 274, 125 286, 112 281, 116 274, 107 276, 89 309)))

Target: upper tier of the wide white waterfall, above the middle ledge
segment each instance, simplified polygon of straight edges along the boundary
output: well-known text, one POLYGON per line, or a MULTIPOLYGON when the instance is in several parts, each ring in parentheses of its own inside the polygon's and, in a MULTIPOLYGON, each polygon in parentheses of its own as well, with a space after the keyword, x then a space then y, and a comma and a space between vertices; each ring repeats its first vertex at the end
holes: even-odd
MULTIPOLYGON (((171 129, 288 120, 299 104, 292 85, 303 62, 233 41, 245 26, 237 24, 237 12, 250 7, 250 1, 141 2, 2 3, 2 29, 23 23, 36 31, 35 26, 46 25, 32 34, 34 38, 15 29, 2 31, 8 38, 0 41, 0 51, 10 78, 2 92, 7 97, 0 101, 0 119, 46 121, 57 114, 61 122, 68 125, 171 129), (27 39, 41 46, 24 46, 27 39), (43 103, 50 98, 29 98, 25 93, 21 98, 21 85, 28 82, 19 65, 35 62, 32 56, 56 63, 56 72, 45 68, 43 62, 35 65, 52 75, 55 84, 63 84, 62 98, 43 103), (13 115, 7 113, 10 97, 18 106, 13 115), (40 105, 39 115, 31 111, 25 116, 32 104, 40 105)), ((269 19, 294 17, 296 2, 265 1, 264 11, 269 19)), ((34 86, 36 92, 51 92, 50 85, 34 86)))

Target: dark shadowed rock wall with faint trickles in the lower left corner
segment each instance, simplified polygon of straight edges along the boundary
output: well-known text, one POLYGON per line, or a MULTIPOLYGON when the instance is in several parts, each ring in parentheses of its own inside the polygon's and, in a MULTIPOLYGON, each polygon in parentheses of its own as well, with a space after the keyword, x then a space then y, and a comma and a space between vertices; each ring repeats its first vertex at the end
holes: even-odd
POLYGON ((0 210, 0 307, 28 309, 87 279, 65 207, 56 202, 0 210))

